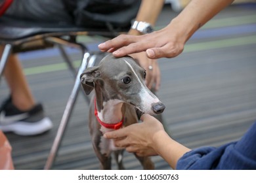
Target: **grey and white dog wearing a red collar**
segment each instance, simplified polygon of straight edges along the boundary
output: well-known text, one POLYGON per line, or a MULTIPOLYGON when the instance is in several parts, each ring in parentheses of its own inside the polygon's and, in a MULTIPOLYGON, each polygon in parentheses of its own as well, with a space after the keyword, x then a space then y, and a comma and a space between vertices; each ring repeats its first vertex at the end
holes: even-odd
MULTIPOLYGON (((146 71, 133 58, 115 58, 112 54, 80 76, 87 95, 95 90, 89 109, 89 131, 101 169, 111 169, 112 152, 118 168, 124 169, 123 149, 117 148, 113 140, 104 139, 104 133, 139 122, 139 114, 160 114, 165 109, 146 87, 145 77, 146 71)), ((144 169, 154 169, 150 158, 136 157, 144 169)))

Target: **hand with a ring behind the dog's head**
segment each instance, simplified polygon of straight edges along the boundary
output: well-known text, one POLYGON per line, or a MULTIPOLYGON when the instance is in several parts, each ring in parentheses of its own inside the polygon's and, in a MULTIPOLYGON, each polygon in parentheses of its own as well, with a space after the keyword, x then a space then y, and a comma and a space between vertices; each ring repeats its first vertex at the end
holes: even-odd
POLYGON ((130 54, 131 57, 139 62, 139 65, 146 70, 146 86, 151 90, 158 91, 160 89, 161 75, 158 61, 149 59, 144 52, 130 54), (150 69, 152 67, 152 69, 150 69))

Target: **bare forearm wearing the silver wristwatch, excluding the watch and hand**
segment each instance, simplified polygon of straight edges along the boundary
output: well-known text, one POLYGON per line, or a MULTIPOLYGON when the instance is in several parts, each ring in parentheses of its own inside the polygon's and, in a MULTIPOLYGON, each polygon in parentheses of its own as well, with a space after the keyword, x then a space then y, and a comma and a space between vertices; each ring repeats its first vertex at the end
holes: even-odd
MULTIPOLYGON (((163 0, 142 0, 135 20, 155 25, 158 15, 163 7, 163 3, 163 0)), ((135 29, 130 29, 129 34, 140 35, 140 32, 135 29)))

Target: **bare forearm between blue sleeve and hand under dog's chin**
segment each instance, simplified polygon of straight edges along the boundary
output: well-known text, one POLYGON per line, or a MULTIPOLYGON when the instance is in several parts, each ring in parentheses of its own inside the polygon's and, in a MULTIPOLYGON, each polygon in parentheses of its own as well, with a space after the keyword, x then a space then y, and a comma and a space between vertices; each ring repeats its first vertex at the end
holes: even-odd
POLYGON ((179 142, 174 141, 165 133, 165 131, 160 131, 156 133, 153 137, 154 150, 163 158, 169 165, 176 169, 178 160, 190 149, 186 148, 179 142))

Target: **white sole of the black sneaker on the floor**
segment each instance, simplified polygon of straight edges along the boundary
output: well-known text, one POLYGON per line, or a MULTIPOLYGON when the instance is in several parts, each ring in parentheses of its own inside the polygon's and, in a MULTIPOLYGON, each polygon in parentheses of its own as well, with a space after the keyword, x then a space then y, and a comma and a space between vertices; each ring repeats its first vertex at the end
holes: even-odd
POLYGON ((9 125, 0 125, 0 129, 3 132, 16 133, 17 135, 29 136, 29 135, 39 135, 45 131, 49 131, 53 127, 53 123, 47 117, 42 120, 30 123, 30 122, 15 122, 9 125))

